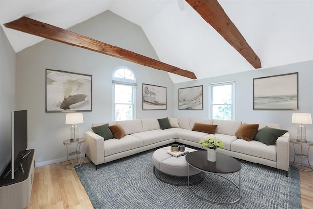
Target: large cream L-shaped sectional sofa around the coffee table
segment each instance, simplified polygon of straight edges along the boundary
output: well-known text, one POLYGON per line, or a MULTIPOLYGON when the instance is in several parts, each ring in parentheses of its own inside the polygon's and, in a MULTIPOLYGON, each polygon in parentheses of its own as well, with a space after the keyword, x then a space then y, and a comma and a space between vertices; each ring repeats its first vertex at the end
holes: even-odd
MULTIPOLYGON (((85 132, 85 153, 96 165, 97 169, 99 164, 174 142, 202 148, 201 144, 198 143, 200 139, 202 137, 214 136, 221 139, 224 143, 224 148, 217 149, 217 152, 281 169, 286 171, 286 176, 288 175, 289 133, 278 137, 276 144, 267 146, 260 141, 246 141, 235 136, 238 128, 243 123, 248 122, 185 117, 169 119, 171 126, 175 128, 161 129, 157 118, 93 123, 92 127, 107 123, 109 126, 118 124, 124 129, 126 136, 121 139, 104 140, 103 137, 95 134, 93 131, 87 131, 85 132), (217 125, 215 134, 192 131, 195 123, 217 125)), ((259 130, 266 126, 280 129, 279 124, 258 124, 259 130)))

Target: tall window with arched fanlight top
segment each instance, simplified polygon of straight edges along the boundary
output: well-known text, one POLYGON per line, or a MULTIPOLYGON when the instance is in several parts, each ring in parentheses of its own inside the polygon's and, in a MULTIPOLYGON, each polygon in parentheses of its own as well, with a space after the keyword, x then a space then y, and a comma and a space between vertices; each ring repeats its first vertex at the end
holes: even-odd
POLYGON ((135 89, 137 86, 134 73, 127 67, 118 67, 113 72, 113 119, 132 120, 135 115, 135 89))

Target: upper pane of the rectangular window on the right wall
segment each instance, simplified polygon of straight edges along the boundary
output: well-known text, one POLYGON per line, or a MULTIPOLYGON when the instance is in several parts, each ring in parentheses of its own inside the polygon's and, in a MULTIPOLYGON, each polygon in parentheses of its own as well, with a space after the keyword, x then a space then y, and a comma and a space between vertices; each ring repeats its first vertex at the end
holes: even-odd
POLYGON ((231 84, 213 87, 213 104, 231 104, 231 84))

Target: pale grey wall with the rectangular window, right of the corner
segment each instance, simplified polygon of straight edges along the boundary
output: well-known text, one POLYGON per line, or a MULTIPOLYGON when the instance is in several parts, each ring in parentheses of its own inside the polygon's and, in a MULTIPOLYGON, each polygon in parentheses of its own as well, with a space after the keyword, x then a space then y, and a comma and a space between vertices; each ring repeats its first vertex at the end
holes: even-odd
MULTIPOLYGON (((298 124, 291 123, 292 113, 311 113, 313 116, 313 60, 174 84, 174 116, 208 118, 208 84, 231 80, 236 82, 235 120, 278 123, 282 129, 289 131, 291 139, 296 139, 298 124), (298 72, 299 76, 299 110, 253 110, 253 78, 293 72, 298 72), (203 85, 203 110, 178 110, 178 89, 198 85, 203 85)), ((305 126, 307 128, 307 140, 313 141, 313 125, 305 126)), ((307 148, 304 147, 303 150, 306 152, 307 148)), ((296 152, 300 152, 300 146, 296 147, 296 152)), ((293 146, 290 144, 290 159, 292 161, 293 157, 293 146)), ((296 158, 296 161, 300 162, 300 159, 296 158)), ((310 150, 310 164, 313 164, 313 149, 310 150)))

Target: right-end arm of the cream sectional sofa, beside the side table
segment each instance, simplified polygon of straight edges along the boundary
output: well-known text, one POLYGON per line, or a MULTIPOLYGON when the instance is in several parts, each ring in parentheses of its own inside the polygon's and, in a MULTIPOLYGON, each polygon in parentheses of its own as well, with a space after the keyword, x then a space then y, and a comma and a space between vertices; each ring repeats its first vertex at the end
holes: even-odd
POLYGON ((276 166, 278 169, 288 171, 289 168, 289 133, 278 137, 276 141, 276 166))

